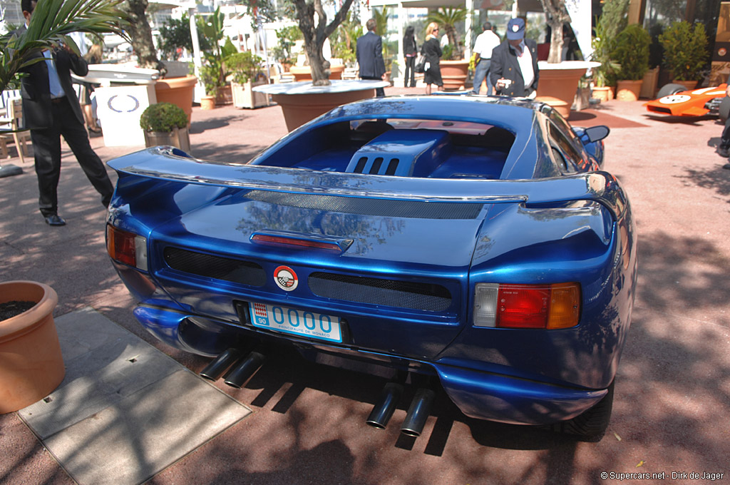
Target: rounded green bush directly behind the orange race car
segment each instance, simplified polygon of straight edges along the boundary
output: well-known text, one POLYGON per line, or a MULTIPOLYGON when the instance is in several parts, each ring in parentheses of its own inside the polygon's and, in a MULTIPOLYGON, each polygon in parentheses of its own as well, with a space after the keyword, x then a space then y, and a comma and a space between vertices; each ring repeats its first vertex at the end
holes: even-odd
POLYGON ((672 79, 694 81, 702 77, 707 62, 707 34, 702 23, 691 26, 686 21, 672 23, 659 35, 664 47, 664 65, 672 72, 672 79))

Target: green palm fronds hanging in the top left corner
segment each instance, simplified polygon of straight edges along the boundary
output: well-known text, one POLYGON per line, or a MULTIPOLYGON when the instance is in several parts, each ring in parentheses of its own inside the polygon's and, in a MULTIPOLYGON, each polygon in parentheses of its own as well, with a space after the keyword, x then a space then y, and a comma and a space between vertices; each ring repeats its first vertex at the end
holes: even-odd
POLYGON ((35 56, 39 50, 64 43, 78 53, 72 32, 123 36, 126 15, 118 4, 120 0, 39 0, 25 31, 0 37, 0 91, 21 69, 42 59, 35 56))

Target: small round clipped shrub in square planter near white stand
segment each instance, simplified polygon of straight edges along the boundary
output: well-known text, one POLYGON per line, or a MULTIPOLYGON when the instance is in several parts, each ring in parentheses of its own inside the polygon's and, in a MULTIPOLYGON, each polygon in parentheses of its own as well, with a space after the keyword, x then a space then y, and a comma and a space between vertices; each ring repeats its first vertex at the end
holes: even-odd
POLYGON ((172 145, 190 153, 188 115, 176 104, 150 104, 139 117, 139 126, 145 131, 145 146, 172 145))

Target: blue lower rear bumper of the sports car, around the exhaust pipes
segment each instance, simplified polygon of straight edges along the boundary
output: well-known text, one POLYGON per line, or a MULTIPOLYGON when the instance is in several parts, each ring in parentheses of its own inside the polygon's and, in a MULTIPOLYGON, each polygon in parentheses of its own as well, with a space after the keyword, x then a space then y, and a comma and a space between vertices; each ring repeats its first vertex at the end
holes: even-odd
MULTIPOLYGON (((134 310, 142 326, 168 345, 206 356, 229 347, 244 346, 254 334, 249 329, 218 324, 184 312, 140 305, 134 310)), ((287 337, 282 337, 286 340, 287 337)), ((351 349, 326 345, 328 353, 352 358, 351 349), (340 352, 338 352, 340 351, 340 352)), ((439 362, 415 361, 399 356, 358 352, 358 360, 410 368, 431 368, 446 394, 458 408, 476 419, 512 424, 552 424, 571 419, 588 410, 607 390, 575 389, 539 381, 486 373, 439 362), (380 357, 380 358, 379 358, 380 357)))

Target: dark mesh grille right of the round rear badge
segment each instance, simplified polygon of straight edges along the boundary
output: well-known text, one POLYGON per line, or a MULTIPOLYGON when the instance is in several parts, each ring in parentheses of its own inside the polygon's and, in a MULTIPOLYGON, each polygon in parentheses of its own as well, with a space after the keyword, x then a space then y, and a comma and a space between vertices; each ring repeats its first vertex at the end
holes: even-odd
POLYGON ((411 310, 442 312, 451 305, 451 294, 440 285, 380 280, 359 276, 313 272, 308 280, 318 297, 385 305, 411 310))

